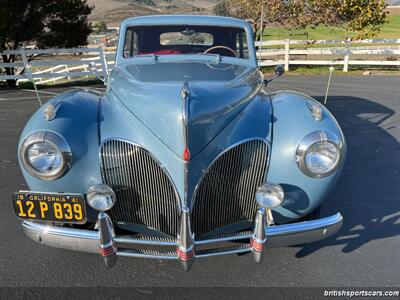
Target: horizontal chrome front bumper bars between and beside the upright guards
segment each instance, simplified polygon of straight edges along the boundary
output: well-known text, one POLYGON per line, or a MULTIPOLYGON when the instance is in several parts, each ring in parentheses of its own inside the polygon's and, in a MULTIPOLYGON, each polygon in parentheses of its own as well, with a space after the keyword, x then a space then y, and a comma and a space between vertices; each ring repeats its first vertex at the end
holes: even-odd
MULTIPOLYGON (((318 240, 327 238, 339 231, 343 224, 343 217, 340 213, 335 215, 317 219, 313 221, 305 221, 300 223, 284 224, 284 225, 274 225, 266 227, 266 248, 274 247, 284 247, 290 245, 299 245, 310 243, 318 240)), ((46 246, 69 249, 82 252, 98 253, 99 245, 99 233, 98 231, 84 230, 84 229, 71 229, 65 227, 55 227, 44 225, 36 222, 24 221, 22 222, 22 227, 24 234, 35 242, 41 243, 46 246)), ((232 237, 216 238, 206 241, 195 241, 195 245, 205 245, 205 244, 215 244, 220 242, 229 242, 239 239, 250 239, 252 233, 240 234, 232 237)), ((176 241, 146 241, 138 240, 130 237, 115 237, 115 242, 130 244, 130 246, 136 245, 149 245, 149 246, 167 246, 176 247, 176 241)), ((233 248, 232 248, 233 249, 233 248)), ((221 249, 223 250, 223 249, 221 249)), ((196 257, 207 257, 216 256, 232 253, 244 253, 251 251, 250 248, 246 249, 236 249, 232 251, 220 251, 210 250, 206 253, 205 250, 196 253, 196 257), (239 252, 238 252, 239 251, 239 252)), ((119 256, 131 256, 131 257, 146 257, 146 258, 156 258, 156 259, 177 259, 176 254, 173 256, 164 255, 154 255, 151 254, 152 251, 148 253, 139 253, 135 250, 129 249, 119 249, 117 255, 119 256)), ((172 255, 172 254, 171 254, 172 255)))

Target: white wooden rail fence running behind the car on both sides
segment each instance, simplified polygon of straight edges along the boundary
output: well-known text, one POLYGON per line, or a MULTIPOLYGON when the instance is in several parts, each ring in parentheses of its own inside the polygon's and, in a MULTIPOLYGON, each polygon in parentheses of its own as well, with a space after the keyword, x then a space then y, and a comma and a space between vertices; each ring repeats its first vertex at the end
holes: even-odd
MULTIPOLYGON (((260 66, 282 64, 288 71, 290 65, 331 65, 343 66, 347 72, 349 66, 397 66, 400 67, 400 39, 369 39, 350 44, 340 40, 274 40, 256 42, 257 56, 260 66), (360 46, 364 45, 365 46, 360 46), (368 45, 367 45, 368 44, 368 45), (370 45, 372 44, 372 45, 370 45), (315 45, 324 45, 317 48, 315 45), (332 47, 326 47, 331 45, 332 47), (339 45, 339 46, 338 46, 339 45), (341 46, 343 45, 343 46, 341 46), (354 46, 353 46, 354 45, 354 46), (312 47, 310 47, 312 46, 312 47), (303 48, 302 48, 303 47, 303 48), (304 48, 305 47, 305 48, 304 48), (306 59, 304 59, 306 56, 306 59), (362 59, 355 56, 362 56, 362 59), (390 59, 383 59, 390 57, 390 59), (322 58, 323 59, 322 59, 322 58)), ((0 53, 15 55, 19 59, 12 63, 0 63, 0 68, 16 68, 19 72, 14 75, 0 73, 0 80, 17 79, 35 81, 36 83, 56 82, 61 79, 71 79, 94 75, 90 65, 95 64, 95 74, 107 77, 114 66, 114 52, 104 52, 98 48, 73 49, 19 49, 0 53), (77 59, 45 59, 29 61, 33 55, 47 57, 74 55, 77 59), (82 58, 86 56, 86 58, 82 58), (47 69, 43 69, 48 67, 47 69), (39 69, 39 70, 37 70, 39 69), (23 70, 23 72, 20 72, 23 70)), ((75 58, 75 57, 74 57, 75 58)))

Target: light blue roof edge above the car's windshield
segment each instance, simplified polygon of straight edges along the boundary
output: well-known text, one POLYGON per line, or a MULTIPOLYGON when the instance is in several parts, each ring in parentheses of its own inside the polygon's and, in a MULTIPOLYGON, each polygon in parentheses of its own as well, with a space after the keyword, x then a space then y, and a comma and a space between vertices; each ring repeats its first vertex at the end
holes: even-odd
POLYGON ((198 15, 151 15, 128 18, 122 21, 121 27, 149 25, 215 25, 251 29, 251 25, 240 19, 219 16, 198 15))

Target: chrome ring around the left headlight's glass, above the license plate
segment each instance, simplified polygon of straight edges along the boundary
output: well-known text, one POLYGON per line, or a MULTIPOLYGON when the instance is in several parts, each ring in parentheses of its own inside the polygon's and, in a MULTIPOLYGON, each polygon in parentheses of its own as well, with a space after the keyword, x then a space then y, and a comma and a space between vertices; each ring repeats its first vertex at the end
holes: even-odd
POLYGON ((37 131, 28 135, 21 143, 19 159, 24 169, 33 177, 41 180, 56 180, 63 177, 71 168, 72 151, 65 138, 53 131, 37 131), (61 154, 61 165, 49 172, 40 172, 31 165, 28 150, 35 144, 49 143, 61 154))

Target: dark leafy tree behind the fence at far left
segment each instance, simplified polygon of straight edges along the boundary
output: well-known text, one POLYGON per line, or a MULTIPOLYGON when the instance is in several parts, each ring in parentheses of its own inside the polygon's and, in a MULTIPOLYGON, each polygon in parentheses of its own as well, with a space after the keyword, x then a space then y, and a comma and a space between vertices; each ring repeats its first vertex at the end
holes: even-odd
MULTIPOLYGON (((27 45, 79 47, 87 45, 92 28, 87 0, 0 0, 0 52, 27 45)), ((4 63, 15 55, 2 55, 4 63)), ((14 68, 5 68, 14 75, 14 68)), ((8 81, 15 85, 14 80, 8 81)))

